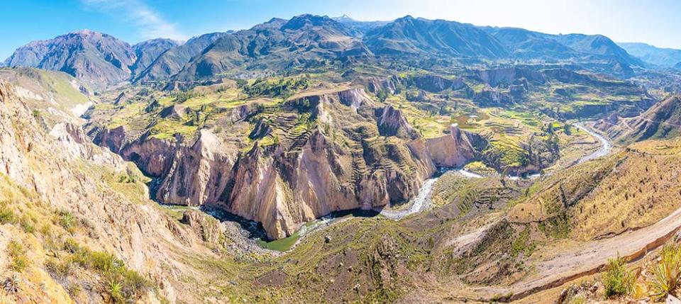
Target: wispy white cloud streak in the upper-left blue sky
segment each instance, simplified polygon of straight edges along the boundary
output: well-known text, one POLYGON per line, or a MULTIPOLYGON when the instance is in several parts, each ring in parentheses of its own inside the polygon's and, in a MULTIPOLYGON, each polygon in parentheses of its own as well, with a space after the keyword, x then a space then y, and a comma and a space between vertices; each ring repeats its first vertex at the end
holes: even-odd
POLYGON ((165 21, 159 13, 154 11, 142 0, 81 0, 89 9, 96 9, 112 16, 123 18, 122 21, 133 23, 139 35, 145 39, 170 38, 186 40, 174 23, 165 21))

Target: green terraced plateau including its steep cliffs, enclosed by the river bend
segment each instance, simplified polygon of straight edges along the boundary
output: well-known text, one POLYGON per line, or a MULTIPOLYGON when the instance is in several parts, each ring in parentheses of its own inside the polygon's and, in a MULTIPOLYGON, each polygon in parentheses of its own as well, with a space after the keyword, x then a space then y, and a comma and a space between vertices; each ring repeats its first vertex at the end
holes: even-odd
POLYGON ((228 210, 272 239, 334 211, 405 203, 436 167, 480 160, 507 174, 538 172, 585 136, 541 111, 520 112, 531 101, 478 101, 467 77, 357 78, 374 93, 333 71, 186 92, 134 86, 105 94, 87 129, 157 179, 157 200, 228 210), (277 186, 254 191, 254 172, 277 186), (263 200, 272 201, 253 205, 263 200))

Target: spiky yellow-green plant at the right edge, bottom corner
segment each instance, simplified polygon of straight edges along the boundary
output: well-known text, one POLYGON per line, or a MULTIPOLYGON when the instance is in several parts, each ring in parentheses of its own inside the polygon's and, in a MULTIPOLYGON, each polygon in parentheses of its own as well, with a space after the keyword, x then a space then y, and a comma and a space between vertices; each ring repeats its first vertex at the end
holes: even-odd
POLYGON ((660 261, 652 270, 653 275, 648 277, 648 293, 650 298, 661 300, 681 283, 680 247, 665 246, 660 254, 660 261))

